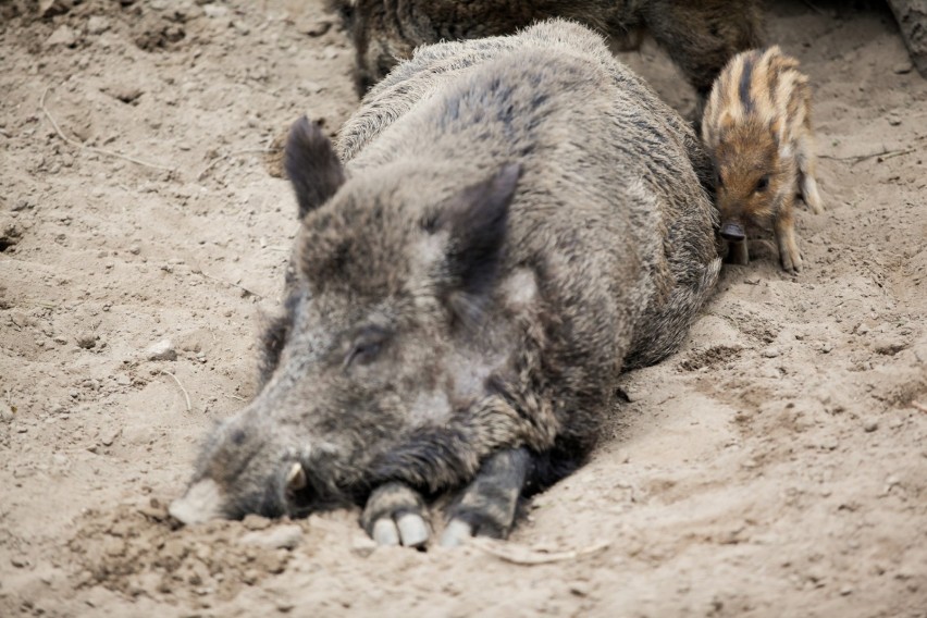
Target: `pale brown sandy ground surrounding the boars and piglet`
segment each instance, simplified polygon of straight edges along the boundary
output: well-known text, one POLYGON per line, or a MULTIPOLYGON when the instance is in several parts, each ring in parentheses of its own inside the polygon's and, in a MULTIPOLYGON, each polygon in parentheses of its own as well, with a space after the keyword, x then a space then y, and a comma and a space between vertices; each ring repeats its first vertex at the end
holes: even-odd
POLYGON ((755 242, 509 543, 419 553, 356 511, 165 514, 254 395, 296 230, 262 150, 356 108, 344 33, 320 1, 34 4, 0 0, 0 616, 927 616, 927 84, 887 9, 770 10, 826 157, 805 271, 755 242))

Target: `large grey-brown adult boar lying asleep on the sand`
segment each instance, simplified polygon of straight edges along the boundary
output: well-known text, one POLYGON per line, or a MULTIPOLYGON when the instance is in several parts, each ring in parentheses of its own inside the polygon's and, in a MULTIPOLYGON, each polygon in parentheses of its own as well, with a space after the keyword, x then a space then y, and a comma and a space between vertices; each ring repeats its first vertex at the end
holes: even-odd
POLYGON ((206 441, 185 522, 362 505, 380 543, 505 536, 581 461, 622 368, 716 282, 710 163, 582 26, 422 48, 339 136, 294 126, 301 231, 254 401, 206 441))

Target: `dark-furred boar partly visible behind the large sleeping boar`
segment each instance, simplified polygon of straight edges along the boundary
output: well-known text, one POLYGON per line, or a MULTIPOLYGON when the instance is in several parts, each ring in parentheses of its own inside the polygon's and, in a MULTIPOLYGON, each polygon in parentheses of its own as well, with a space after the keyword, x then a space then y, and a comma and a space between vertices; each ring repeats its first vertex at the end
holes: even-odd
POLYGON ((733 54, 763 45, 757 0, 330 0, 357 53, 364 94, 419 46, 514 34, 551 17, 622 41, 646 27, 701 96, 733 54))

